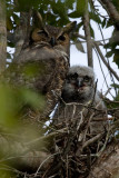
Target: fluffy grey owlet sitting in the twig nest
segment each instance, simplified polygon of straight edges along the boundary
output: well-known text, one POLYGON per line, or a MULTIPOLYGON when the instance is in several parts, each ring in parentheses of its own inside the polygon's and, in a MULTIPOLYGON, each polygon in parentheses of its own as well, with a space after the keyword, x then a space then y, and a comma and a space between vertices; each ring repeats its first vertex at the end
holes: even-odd
POLYGON ((100 112, 106 110, 106 106, 100 98, 99 91, 96 90, 95 80, 95 72, 90 67, 73 66, 69 69, 61 99, 53 116, 54 125, 60 126, 63 122, 65 126, 70 120, 79 119, 82 110, 85 110, 83 117, 88 116, 89 110, 91 110, 88 109, 89 106, 100 110, 95 112, 93 118, 101 118, 101 122, 92 119, 93 121, 90 123, 91 132, 93 132, 96 123, 98 123, 98 128, 99 125, 102 125, 103 115, 100 112))

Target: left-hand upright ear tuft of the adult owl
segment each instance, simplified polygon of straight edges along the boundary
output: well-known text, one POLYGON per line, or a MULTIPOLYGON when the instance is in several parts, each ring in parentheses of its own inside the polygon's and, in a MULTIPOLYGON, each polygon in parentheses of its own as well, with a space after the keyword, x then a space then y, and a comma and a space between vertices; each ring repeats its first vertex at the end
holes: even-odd
POLYGON ((36 28, 40 28, 40 29, 43 29, 44 27, 42 17, 37 10, 33 11, 33 24, 36 28))

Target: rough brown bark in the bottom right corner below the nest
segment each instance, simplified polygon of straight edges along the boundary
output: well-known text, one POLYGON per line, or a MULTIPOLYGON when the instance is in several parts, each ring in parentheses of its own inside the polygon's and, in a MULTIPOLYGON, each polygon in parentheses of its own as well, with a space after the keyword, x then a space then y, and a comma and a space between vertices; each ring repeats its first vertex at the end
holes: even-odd
POLYGON ((119 144, 110 145, 93 165, 88 178, 118 178, 119 177, 119 144))

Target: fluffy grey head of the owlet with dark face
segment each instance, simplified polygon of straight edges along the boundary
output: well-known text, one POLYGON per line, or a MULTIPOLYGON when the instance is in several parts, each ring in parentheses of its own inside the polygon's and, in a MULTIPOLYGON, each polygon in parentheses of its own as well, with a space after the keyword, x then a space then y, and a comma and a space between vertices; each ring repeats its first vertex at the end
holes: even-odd
POLYGON ((66 102, 85 102, 95 93, 95 72, 90 67, 73 66, 69 69, 62 89, 66 102))

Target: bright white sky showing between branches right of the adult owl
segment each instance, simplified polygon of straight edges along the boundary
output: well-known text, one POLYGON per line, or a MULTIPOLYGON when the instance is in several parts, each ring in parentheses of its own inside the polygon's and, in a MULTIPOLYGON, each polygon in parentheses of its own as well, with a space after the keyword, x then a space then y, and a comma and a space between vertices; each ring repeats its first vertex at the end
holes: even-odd
MULTIPOLYGON (((97 2, 97 4, 99 4, 97 2)), ((102 14, 106 14, 106 11, 102 9, 102 8, 99 8, 100 9, 100 12, 102 14)), ((76 19, 77 20, 77 19, 76 19)), ((91 20, 91 27, 93 28, 93 31, 95 31, 95 40, 102 40, 102 36, 100 33, 100 30, 99 30, 99 27, 98 24, 91 20)), ((110 27, 110 28, 107 28, 107 29, 103 29, 102 30, 102 33, 103 33, 103 38, 105 39, 109 39, 112 34, 112 30, 113 30, 113 27, 110 27)), ((83 30, 80 29, 79 31, 80 34, 83 34, 83 30)), ((83 34, 85 36, 85 34, 83 34)), ((80 39, 82 41, 82 39, 80 39)), ((106 41, 107 42, 107 41, 106 41)), ((83 44, 83 48, 85 48, 85 51, 86 53, 82 53, 80 51, 77 50, 77 48, 75 46, 71 46, 71 49, 70 49, 70 63, 71 66, 73 65, 81 65, 81 66, 88 66, 87 65, 87 46, 86 43, 82 43, 83 44)), ((106 55, 106 50, 101 47, 101 51, 103 53, 103 56, 106 55)), ((119 69, 117 67, 117 65, 115 62, 112 62, 112 58, 109 58, 109 61, 110 61, 110 66, 111 68, 117 71, 117 73, 119 75, 119 69)), ((110 79, 110 75, 109 75, 109 71, 107 70, 107 67, 103 65, 103 62, 101 62, 101 66, 102 66, 102 70, 105 72, 105 76, 106 76, 106 79, 107 79, 107 82, 108 82, 108 86, 110 87, 110 85, 112 83, 111 82, 111 79, 110 79)), ((99 65, 99 60, 98 60, 98 57, 96 55, 96 52, 93 51, 93 70, 96 72, 96 76, 98 78, 98 89, 100 91, 102 91, 102 93, 105 95, 106 91, 108 90, 107 86, 106 86, 106 82, 105 82, 105 79, 103 79, 103 76, 102 76, 102 72, 101 72, 101 69, 100 69, 100 65, 99 65)), ((115 80, 117 83, 118 81, 115 80)), ((115 90, 111 89, 111 93, 115 96, 115 90)), ((111 96, 108 95, 108 97, 111 99, 111 96)))

